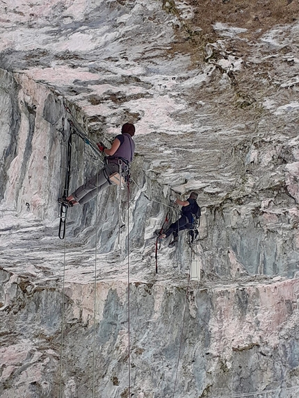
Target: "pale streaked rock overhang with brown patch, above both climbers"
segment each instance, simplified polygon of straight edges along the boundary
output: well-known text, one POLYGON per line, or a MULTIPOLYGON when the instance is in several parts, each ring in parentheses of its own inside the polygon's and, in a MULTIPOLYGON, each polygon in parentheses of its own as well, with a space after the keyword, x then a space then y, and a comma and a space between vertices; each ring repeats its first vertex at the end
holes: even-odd
POLYGON ((93 137, 134 122, 143 173, 161 185, 198 190, 208 209, 250 197, 253 209, 284 186, 298 197, 284 160, 299 110, 295 2, 1 7, 0 67, 79 109, 93 137))

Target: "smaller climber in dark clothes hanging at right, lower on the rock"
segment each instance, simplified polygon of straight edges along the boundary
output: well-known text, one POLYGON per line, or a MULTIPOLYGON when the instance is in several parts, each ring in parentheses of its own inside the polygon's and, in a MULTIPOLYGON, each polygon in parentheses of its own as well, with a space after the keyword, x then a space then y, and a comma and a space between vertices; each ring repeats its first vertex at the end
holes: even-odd
POLYGON ((198 194, 196 192, 191 192, 190 197, 186 201, 182 201, 180 199, 175 199, 175 204, 179 204, 182 206, 181 208, 181 217, 177 219, 177 221, 172 222, 170 224, 170 227, 166 230, 163 231, 163 233, 160 234, 160 238, 168 238, 173 233, 173 241, 170 242, 170 246, 175 244, 179 238, 179 231, 183 231, 184 229, 192 229, 193 228, 193 222, 194 217, 193 215, 197 212, 197 199, 198 194))

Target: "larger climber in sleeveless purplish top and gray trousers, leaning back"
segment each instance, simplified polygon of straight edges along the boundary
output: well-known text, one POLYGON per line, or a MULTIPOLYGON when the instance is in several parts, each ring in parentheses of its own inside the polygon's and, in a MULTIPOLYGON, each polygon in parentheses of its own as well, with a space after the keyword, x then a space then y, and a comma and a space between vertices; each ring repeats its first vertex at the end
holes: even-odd
POLYGON ((134 124, 125 123, 122 126, 122 134, 115 137, 111 149, 104 148, 102 144, 97 143, 99 150, 107 155, 104 168, 68 197, 60 198, 58 201, 70 207, 76 204, 83 205, 99 194, 104 188, 107 188, 111 184, 115 185, 115 182, 109 180, 109 176, 120 171, 120 160, 122 161, 122 170, 133 160, 135 144, 132 137, 134 134, 134 124))

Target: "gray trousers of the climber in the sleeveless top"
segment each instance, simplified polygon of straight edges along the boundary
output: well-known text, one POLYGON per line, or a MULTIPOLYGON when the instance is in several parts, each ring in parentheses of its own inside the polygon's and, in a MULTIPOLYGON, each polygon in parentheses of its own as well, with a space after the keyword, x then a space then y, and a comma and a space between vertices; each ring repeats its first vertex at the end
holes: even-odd
MULTIPOLYGON (((86 204, 90 199, 97 196, 101 190, 111 185, 108 183, 106 176, 111 176, 111 174, 119 172, 119 170, 119 166, 115 163, 108 163, 95 176, 92 176, 85 184, 77 188, 72 193, 72 196, 79 204, 86 204)), ((112 183, 112 185, 115 185, 115 183, 112 183)))

